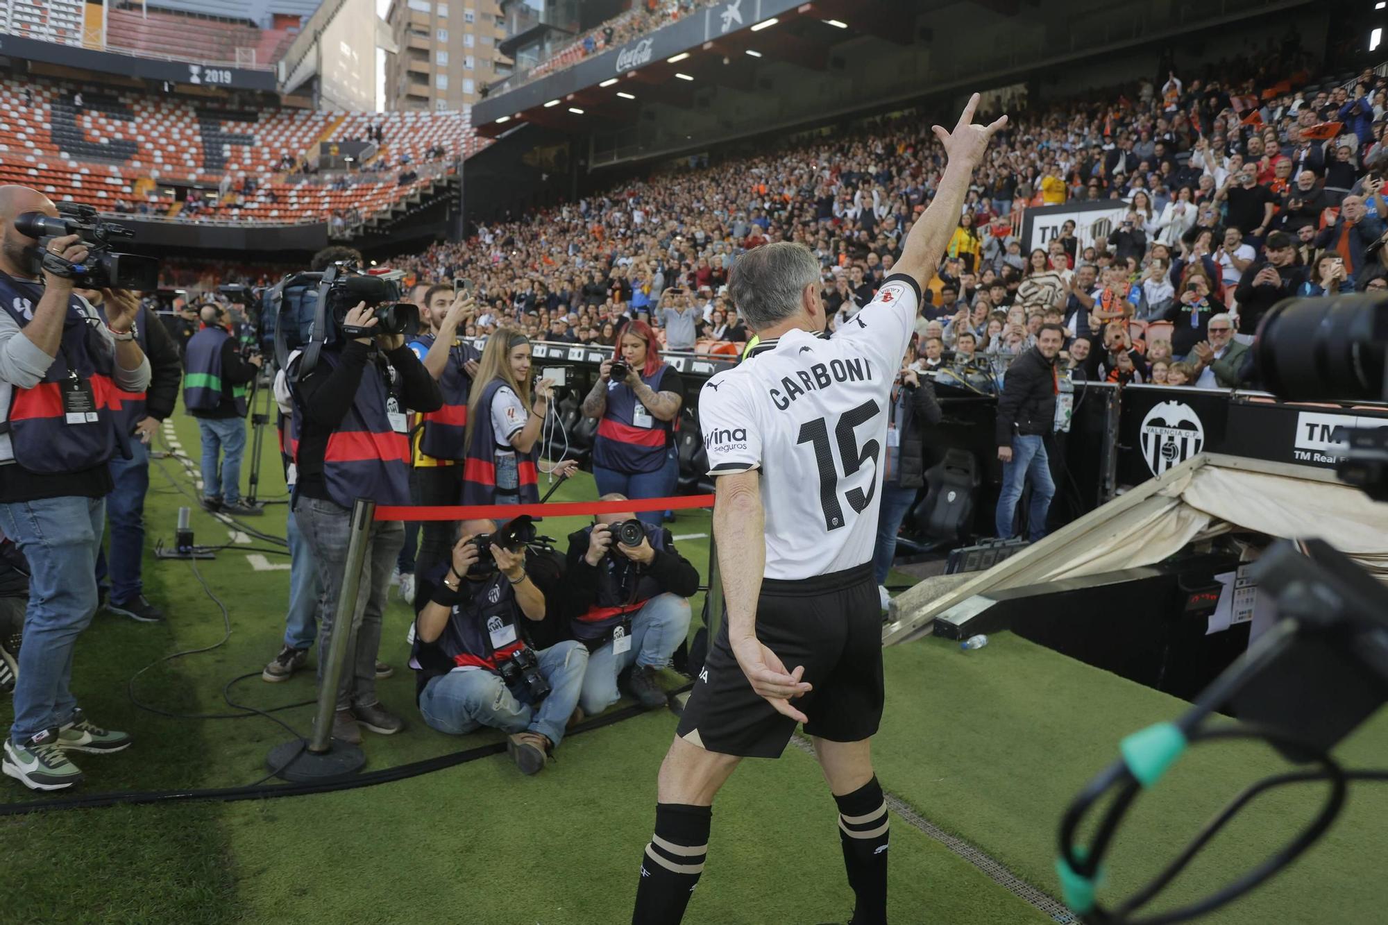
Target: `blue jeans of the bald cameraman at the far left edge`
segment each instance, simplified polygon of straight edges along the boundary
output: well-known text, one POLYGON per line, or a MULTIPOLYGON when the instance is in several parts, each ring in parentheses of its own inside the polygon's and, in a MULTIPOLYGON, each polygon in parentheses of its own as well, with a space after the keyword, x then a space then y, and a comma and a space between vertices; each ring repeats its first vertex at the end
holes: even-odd
POLYGON ((78 701, 72 651, 96 612, 96 551, 105 499, 47 497, 0 504, 0 531, 29 560, 19 681, 14 688, 15 744, 72 718, 78 701))

